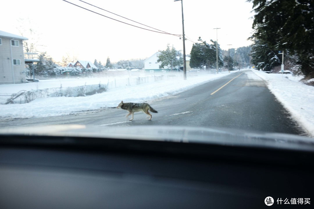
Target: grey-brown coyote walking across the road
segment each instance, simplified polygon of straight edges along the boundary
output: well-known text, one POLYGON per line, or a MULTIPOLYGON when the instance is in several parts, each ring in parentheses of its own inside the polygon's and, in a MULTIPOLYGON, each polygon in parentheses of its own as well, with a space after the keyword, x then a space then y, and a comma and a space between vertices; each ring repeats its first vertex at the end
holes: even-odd
POLYGON ((132 114, 132 118, 130 119, 130 121, 133 120, 134 112, 143 111, 144 113, 149 115, 149 120, 152 119, 152 115, 148 112, 149 110, 151 112, 157 113, 157 111, 147 103, 133 103, 133 102, 123 103, 123 101, 121 101, 117 108, 118 109, 121 108, 121 109, 129 111, 129 114, 127 114, 125 117, 128 118, 129 115, 132 114))

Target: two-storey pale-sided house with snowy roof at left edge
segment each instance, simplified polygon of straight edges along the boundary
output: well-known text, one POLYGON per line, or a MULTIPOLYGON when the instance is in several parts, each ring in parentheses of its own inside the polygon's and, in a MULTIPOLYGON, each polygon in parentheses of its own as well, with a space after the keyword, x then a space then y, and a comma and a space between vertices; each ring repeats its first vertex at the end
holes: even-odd
POLYGON ((0 84, 25 82, 23 36, 0 30, 0 84))

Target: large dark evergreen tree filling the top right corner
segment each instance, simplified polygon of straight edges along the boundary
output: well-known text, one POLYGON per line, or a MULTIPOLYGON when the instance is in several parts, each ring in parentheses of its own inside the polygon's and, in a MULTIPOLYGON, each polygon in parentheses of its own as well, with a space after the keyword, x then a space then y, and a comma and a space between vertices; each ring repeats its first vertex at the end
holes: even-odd
POLYGON ((255 11, 254 38, 271 50, 284 50, 299 56, 301 71, 314 77, 314 1, 248 0, 255 11))

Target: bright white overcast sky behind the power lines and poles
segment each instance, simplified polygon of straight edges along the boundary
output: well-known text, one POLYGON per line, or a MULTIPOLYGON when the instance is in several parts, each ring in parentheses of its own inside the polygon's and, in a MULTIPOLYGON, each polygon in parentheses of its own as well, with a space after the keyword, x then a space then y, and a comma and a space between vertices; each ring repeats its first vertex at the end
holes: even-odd
MULTIPOLYGON (((67 0, 102 15, 133 24, 114 14, 92 7, 79 0, 67 0)), ((116 13, 141 24, 170 34, 182 35, 181 1, 173 0, 84 0, 99 8, 116 13)), ((252 33, 252 3, 246 0, 183 0, 186 54, 200 36, 210 43, 216 40, 224 50, 251 44, 246 39, 252 33), (232 45, 228 45, 232 44, 232 45)), ((69 54, 78 60, 97 59, 106 64, 119 60, 145 59, 167 44, 183 49, 182 39, 156 33, 103 17, 62 0, 8 0, 2 2, 0 30, 19 34, 23 29, 35 31, 33 36, 55 61, 69 54), (24 21, 19 21, 23 18, 24 21), (28 19, 30 23, 28 23, 28 19), (23 23, 23 24, 21 24, 23 23), (23 26, 21 26, 23 25, 23 26)), ((151 29, 151 30, 155 30, 151 29)), ((23 34, 31 39, 30 34, 23 34)))

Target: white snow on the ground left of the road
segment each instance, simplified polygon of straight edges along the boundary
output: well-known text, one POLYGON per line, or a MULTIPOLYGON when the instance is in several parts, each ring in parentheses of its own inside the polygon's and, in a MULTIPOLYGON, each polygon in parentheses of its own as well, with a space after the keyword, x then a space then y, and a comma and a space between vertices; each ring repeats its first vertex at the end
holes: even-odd
MULTIPOLYGON (((231 71, 230 73, 232 72, 235 71, 231 71)), ((88 97, 48 97, 38 98, 26 104, 1 105, 0 119, 68 115, 75 112, 96 110, 104 107, 116 107, 121 100, 125 102, 144 102, 186 91, 205 82, 218 79, 222 76, 227 76, 230 73, 222 72, 219 74, 188 76, 187 80, 183 80, 183 77, 179 76, 178 79, 174 80, 161 80, 134 86, 127 86, 126 84, 123 87, 109 89, 106 92, 94 94, 88 97)), ((64 82, 68 82, 67 86, 75 86, 82 85, 80 80, 81 79, 76 79, 69 82, 66 80, 50 80, 42 83, 40 83, 40 81, 40 84, 31 83, 31 85, 34 88, 48 88, 48 86, 56 87, 61 84, 62 86, 65 86, 64 82)), ((87 79, 84 82, 95 84, 95 82, 99 82, 99 79, 87 79), (94 81, 94 83, 92 81, 94 81)), ((12 91, 11 88, 13 88, 15 93, 19 90, 23 90, 23 88, 26 88, 25 86, 27 87, 28 85, 0 85, 0 92, 10 92, 12 91)))

